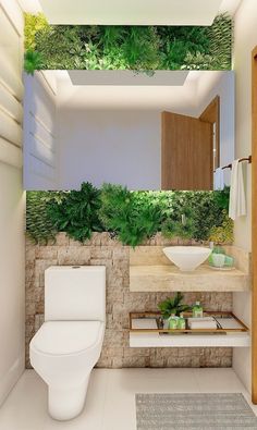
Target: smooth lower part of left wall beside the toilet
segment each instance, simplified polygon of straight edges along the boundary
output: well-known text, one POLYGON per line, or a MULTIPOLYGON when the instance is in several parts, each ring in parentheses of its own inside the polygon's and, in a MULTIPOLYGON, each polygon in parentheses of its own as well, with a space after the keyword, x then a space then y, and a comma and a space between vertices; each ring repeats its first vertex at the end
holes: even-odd
POLYGON ((21 169, 0 161, 0 404, 24 369, 24 204, 21 169))

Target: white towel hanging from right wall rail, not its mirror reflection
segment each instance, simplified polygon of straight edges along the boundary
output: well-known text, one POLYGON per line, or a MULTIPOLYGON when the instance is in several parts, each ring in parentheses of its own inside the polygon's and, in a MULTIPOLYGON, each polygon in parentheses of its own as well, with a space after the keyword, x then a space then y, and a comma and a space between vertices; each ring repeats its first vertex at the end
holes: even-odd
POLYGON ((243 167, 238 160, 235 160, 232 162, 229 217, 235 220, 237 217, 243 217, 245 214, 246 200, 243 167))

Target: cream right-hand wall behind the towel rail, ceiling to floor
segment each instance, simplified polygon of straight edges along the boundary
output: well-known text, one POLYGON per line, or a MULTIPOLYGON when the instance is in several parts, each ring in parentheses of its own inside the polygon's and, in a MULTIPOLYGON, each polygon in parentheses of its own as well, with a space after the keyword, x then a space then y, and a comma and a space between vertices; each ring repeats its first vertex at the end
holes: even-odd
MULTIPOLYGON (((244 0, 235 15, 234 70, 236 74, 236 146, 235 157, 252 153, 252 50, 257 45, 257 1, 244 0)), ((247 191, 247 217, 235 222, 235 244, 252 249, 252 167, 244 165, 247 191)), ((250 323, 250 293, 234 294, 234 310, 250 323)), ((250 351, 235 349, 233 367, 250 391, 250 351)))

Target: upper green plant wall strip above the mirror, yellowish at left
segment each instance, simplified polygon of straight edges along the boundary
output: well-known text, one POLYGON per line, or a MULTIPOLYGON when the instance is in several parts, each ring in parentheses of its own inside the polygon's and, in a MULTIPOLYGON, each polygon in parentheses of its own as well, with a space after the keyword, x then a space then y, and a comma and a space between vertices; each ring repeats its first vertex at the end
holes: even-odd
POLYGON ((25 69, 230 70, 233 23, 218 15, 205 26, 49 25, 25 15, 25 69))

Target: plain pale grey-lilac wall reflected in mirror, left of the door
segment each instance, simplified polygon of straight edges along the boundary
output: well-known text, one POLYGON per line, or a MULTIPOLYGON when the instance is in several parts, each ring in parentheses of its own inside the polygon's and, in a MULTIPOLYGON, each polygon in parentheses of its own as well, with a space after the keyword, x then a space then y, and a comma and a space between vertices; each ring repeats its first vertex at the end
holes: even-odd
POLYGON ((160 113, 152 111, 59 111, 60 188, 83 181, 160 189, 160 113))

